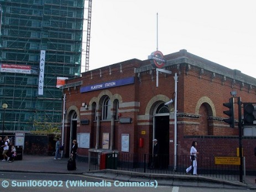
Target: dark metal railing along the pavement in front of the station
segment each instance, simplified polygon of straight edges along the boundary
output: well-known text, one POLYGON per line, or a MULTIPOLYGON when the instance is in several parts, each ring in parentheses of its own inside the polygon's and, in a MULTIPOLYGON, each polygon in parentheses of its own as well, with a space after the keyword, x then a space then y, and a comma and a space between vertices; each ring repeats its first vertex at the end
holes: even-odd
MULTIPOLYGON (((89 153, 89 170, 117 169, 140 173, 185 175, 186 168, 191 165, 189 155, 176 156, 176 167, 174 167, 174 157, 170 158, 167 154, 161 154, 154 159, 152 154, 89 153), (153 161, 155 161, 154 166, 152 166, 153 161)), ((197 156, 197 174, 239 181, 239 166, 215 164, 215 156, 197 156)))

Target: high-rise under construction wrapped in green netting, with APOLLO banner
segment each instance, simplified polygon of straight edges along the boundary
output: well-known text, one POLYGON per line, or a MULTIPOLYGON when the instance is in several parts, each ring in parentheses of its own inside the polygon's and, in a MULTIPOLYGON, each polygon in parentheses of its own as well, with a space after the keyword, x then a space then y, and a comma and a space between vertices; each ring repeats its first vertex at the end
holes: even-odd
POLYGON ((57 79, 80 76, 84 0, 0 0, 0 119, 3 132, 35 122, 61 126, 57 79), (2 105, 7 104, 3 109, 2 105))

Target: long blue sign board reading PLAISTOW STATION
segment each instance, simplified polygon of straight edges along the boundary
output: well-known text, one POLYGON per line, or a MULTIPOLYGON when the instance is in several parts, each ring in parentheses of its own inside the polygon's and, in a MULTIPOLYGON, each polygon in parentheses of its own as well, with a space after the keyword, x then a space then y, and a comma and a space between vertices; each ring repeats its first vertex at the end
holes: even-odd
POLYGON ((134 77, 117 79, 117 80, 113 80, 113 81, 93 84, 91 86, 81 87, 80 93, 91 92, 92 90, 100 90, 100 89, 106 89, 106 88, 111 88, 111 87, 124 86, 126 84, 132 84, 132 83, 134 83, 134 77))

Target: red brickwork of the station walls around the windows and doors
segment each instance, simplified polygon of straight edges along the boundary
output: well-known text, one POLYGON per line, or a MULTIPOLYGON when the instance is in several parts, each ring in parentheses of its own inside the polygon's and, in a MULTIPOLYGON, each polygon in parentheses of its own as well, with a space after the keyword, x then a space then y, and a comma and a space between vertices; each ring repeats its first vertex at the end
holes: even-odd
MULTIPOLYGON (((156 87, 155 71, 151 76, 150 71, 142 72, 139 75, 134 73, 135 67, 145 65, 145 62, 138 60, 127 61, 122 64, 122 72, 119 64, 111 66, 111 74, 109 67, 103 67, 101 70, 93 70, 84 73, 81 78, 71 79, 68 83, 83 81, 83 86, 109 81, 111 79, 119 79, 124 77, 135 77, 135 83, 127 86, 114 87, 107 89, 112 95, 119 94, 123 103, 138 102, 138 107, 123 107, 125 113, 123 117, 131 117, 132 124, 115 123, 114 128, 114 149, 121 151, 121 135, 130 134, 130 153, 150 153, 152 150, 153 139, 153 121, 145 122, 147 125, 138 125, 137 115, 145 115, 145 110, 152 98, 156 95, 165 95, 171 98, 175 92, 174 74, 179 76, 177 83, 177 152, 178 154, 187 154, 191 147, 192 141, 198 142, 198 151, 203 155, 215 156, 236 156, 236 148, 238 147, 238 127, 231 128, 222 121, 222 118, 228 118, 223 114, 223 110, 227 110, 223 103, 227 103, 231 97, 231 90, 237 91, 237 96, 242 98, 243 102, 255 102, 255 87, 249 88, 248 84, 241 84, 239 81, 233 81, 212 72, 201 71, 201 68, 191 65, 187 70, 187 64, 181 63, 179 68, 176 65, 170 66, 168 70, 173 74, 159 74, 159 87, 156 87), (92 74, 91 74, 92 73, 92 74), (92 77, 92 78, 91 78, 92 77), (213 108, 206 103, 199 106, 198 101, 203 98, 209 98, 207 102, 212 102, 213 108), (137 111, 138 110, 138 111, 137 111), (198 110, 198 114, 196 111, 198 110), (215 111, 215 115, 213 115, 215 111), (142 135, 141 131, 146 134, 142 135), (144 147, 138 147, 139 138, 144 138, 144 147)), ((235 76, 234 76, 235 77, 235 76)), ((76 90, 71 88, 71 92, 65 89, 67 95, 66 108, 76 106, 80 110, 81 103, 90 102, 92 98, 97 98, 103 90, 95 90, 92 92, 81 93, 80 88, 76 90)), ((163 102, 163 101, 161 101, 163 102)), ((236 100, 237 102, 237 100, 236 100)), ((236 120, 238 120, 238 106, 235 104, 236 120)), ((96 145, 96 122, 93 122, 92 111, 88 111, 89 115, 83 115, 81 119, 90 119, 90 125, 81 125, 80 129, 85 132, 91 132, 91 147, 96 145)), ((83 112, 81 112, 83 113, 83 112)), ((153 111, 150 112, 153 115, 153 111)), ((173 119, 170 120, 173 122, 173 119)), ((111 130, 111 122, 101 122, 100 128, 100 145, 102 141, 102 133, 111 130)), ((109 134, 110 135, 110 134, 109 134)), ((170 125, 170 140, 174 140, 174 125, 170 125)), ((253 148, 256 146, 255 137, 244 137, 243 148, 244 156, 247 158, 248 168, 254 168, 251 164, 255 160, 252 156, 253 148), (249 163, 248 163, 249 162, 249 163)), ((173 155, 174 145, 170 143, 170 155, 173 155)), ((81 150, 85 152, 86 150, 81 150)))

